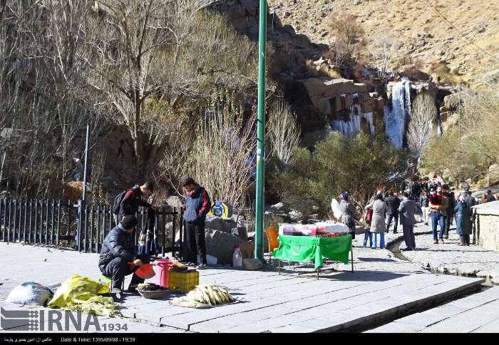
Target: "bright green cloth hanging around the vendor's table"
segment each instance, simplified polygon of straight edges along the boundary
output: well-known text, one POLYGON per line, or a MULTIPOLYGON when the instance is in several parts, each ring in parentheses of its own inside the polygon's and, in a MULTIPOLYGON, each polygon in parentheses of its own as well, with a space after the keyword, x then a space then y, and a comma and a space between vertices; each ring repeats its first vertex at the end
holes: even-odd
POLYGON ((285 261, 314 262, 317 269, 322 264, 322 257, 349 263, 351 235, 336 237, 287 236, 279 235, 279 248, 273 257, 285 261))

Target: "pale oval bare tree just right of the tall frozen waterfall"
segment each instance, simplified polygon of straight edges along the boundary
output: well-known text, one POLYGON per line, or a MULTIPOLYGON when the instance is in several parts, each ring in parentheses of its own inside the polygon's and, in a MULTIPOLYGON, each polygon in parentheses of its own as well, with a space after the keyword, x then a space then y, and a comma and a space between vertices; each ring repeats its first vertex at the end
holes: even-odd
POLYGON ((411 122, 408 125, 408 145, 416 158, 421 155, 421 150, 428 145, 433 136, 433 120, 437 115, 435 101, 430 93, 418 93, 413 103, 411 122))

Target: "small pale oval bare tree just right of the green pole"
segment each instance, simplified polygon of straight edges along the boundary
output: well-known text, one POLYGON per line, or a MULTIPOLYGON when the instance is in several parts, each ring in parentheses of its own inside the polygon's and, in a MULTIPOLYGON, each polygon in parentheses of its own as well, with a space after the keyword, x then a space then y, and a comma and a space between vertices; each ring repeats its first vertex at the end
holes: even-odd
POLYGON ((269 136, 274 155, 282 163, 294 163, 293 151, 299 145, 300 125, 289 105, 277 101, 272 105, 269 114, 269 136))

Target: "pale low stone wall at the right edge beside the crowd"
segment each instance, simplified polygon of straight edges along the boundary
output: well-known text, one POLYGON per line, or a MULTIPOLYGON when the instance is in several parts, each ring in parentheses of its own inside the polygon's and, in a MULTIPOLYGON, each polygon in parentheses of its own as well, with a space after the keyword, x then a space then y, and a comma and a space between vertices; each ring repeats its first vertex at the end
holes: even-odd
POLYGON ((476 244, 499 252, 499 201, 473 207, 473 236, 476 244))

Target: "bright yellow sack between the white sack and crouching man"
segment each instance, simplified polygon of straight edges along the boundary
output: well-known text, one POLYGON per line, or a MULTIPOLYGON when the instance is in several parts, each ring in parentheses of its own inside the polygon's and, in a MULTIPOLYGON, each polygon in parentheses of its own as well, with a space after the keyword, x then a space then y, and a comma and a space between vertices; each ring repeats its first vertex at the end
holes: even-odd
POLYGON ((58 287, 56 294, 48 302, 48 307, 67 307, 68 304, 88 301, 91 297, 98 294, 107 294, 108 292, 109 287, 107 284, 101 284, 90 278, 73 274, 71 278, 58 287))

